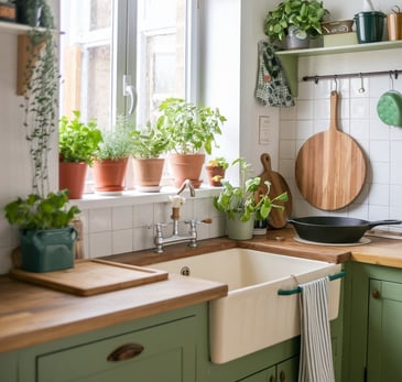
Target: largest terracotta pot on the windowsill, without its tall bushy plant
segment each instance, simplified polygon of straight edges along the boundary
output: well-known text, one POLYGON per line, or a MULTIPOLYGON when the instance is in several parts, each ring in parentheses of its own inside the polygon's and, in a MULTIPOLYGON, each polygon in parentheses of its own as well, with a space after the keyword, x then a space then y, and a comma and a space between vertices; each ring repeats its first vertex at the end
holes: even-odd
POLYGON ((180 187, 185 179, 191 179, 198 188, 203 181, 199 175, 205 162, 205 154, 170 154, 169 166, 174 177, 174 186, 180 187))

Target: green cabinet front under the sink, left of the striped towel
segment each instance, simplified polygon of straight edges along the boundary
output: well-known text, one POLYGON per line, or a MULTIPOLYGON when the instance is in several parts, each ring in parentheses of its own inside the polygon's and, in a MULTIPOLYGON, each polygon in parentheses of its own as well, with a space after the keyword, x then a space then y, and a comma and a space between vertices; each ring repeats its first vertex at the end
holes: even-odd
MULTIPOLYGON (((297 382, 298 357, 293 357, 267 370, 247 376, 241 382, 297 382)), ((239 381, 239 382, 240 382, 239 381)))

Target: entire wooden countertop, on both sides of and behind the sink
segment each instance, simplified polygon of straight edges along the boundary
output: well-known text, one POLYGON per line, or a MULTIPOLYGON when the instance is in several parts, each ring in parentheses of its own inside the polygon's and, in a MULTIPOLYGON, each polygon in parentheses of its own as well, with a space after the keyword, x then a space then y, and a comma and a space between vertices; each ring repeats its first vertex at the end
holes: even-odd
MULTIPOLYGON (((302 243, 294 238, 293 229, 286 228, 249 241, 217 238, 200 241, 195 249, 184 243, 166 247, 162 254, 149 250, 105 259, 152 268, 160 261, 242 247, 335 263, 351 260, 402 268, 401 240, 368 237, 368 244, 330 247, 302 243)), ((207 302, 227 292, 225 284, 171 274, 165 281, 82 297, 1 276, 0 352, 207 302)))

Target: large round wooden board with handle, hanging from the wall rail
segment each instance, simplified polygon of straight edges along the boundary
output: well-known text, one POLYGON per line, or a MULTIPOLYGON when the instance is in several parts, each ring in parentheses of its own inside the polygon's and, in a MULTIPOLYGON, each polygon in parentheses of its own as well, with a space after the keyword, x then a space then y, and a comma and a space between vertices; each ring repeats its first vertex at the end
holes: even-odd
POLYGON ((329 129, 309 138, 295 166, 297 187, 314 207, 337 210, 360 194, 366 181, 366 157, 357 142, 338 129, 338 94, 330 94, 329 129))

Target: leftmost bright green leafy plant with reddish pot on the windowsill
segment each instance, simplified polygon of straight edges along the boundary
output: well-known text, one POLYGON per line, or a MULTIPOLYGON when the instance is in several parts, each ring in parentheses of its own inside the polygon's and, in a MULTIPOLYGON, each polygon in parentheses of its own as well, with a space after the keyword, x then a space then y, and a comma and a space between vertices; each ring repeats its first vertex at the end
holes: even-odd
POLYGON ((79 199, 88 165, 94 164, 102 134, 94 119, 85 123, 80 121, 79 110, 73 114, 72 119, 63 116, 58 123, 58 186, 59 189, 69 189, 70 199, 79 199))

